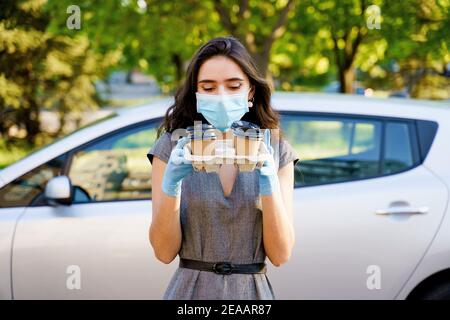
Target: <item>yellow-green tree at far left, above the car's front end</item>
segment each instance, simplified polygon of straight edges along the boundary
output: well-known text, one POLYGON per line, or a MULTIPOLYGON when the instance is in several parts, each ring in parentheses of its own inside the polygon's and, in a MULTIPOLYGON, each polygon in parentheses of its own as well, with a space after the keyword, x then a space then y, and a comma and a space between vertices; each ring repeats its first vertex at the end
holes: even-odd
MULTIPOLYGON (((44 0, 0 3, 0 134, 4 139, 15 128, 34 144, 44 107, 54 109, 62 119, 69 110, 96 107, 93 81, 114 62, 94 54, 82 35, 50 32, 46 4, 44 0)), ((67 17, 65 10, 60 13, 67 17)))

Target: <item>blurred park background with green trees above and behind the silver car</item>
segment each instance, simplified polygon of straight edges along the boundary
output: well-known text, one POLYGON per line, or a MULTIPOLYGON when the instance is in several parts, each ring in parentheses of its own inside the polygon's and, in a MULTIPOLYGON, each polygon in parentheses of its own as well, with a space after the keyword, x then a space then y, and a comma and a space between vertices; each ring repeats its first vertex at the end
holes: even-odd
POLYGON ((170 96, 232 35, 276 91, 450 105, 450 0, 0 1, 0 169, 116 108, 170 96))

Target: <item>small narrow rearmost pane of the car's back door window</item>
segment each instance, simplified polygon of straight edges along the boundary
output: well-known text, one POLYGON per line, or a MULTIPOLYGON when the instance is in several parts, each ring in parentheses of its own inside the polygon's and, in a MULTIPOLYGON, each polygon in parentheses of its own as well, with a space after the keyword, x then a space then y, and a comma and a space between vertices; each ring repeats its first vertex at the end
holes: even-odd
POLYGON ((414 165, 411 137, 406 123, 386 123, 383 173, 403 171, 414 165))

